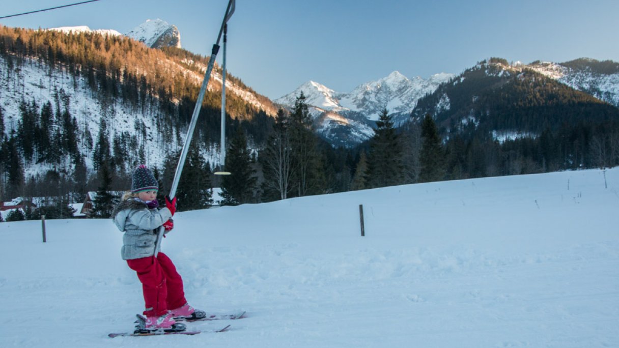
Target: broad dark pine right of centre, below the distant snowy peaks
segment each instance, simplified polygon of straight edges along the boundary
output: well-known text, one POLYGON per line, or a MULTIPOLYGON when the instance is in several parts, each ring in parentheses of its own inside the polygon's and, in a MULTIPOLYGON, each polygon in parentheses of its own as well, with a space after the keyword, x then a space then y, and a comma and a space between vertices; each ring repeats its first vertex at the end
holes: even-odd
POLYGON ((370 140, 366 185, 368 188, 401 185, 404 182, 402 144, 386 109, 376 121, 370 140))

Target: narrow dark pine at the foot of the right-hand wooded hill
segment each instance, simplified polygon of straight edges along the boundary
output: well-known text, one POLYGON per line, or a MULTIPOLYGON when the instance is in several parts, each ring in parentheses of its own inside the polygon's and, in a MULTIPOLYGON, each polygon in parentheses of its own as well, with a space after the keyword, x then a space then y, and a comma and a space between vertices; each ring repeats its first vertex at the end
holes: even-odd
POLYGON ((444 150, 436 123, 426 114, 422 123, 423 146, 420 154, 420 182, 439 181, 445 177, 444 150))

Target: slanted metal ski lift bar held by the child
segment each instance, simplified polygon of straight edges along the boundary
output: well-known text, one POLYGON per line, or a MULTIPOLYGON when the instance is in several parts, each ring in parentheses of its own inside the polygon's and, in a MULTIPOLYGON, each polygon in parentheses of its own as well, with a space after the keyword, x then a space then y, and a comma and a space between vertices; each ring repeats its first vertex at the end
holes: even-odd
MULTIPOLYGON (((235 0, 230 0, 228 2, 228 7, 226 8, 225 17, 223 17, 222 27, 219 30, 219 35, 217 36, 217 42, 213 45, 213 49, 210 53, 209 66, 206 69, 206 73, 204 74, 204 79, 202 80, 202 87, 200 87, 200 94, 196 100, 196 107, 194 107, 193 115, 191 115, 191 122, 189 123, 189 129, 187 131, 187 136, 185 137, 185 142, 183 144, 183 149, 181 150, 181 157, 178 159, 178 165, 176 165, 176 172, 174 173, 174 180, 172 181, 172 187, 170 188, 170 198, 176 196, 176 188, 178 188, 178 181, 181 179, 181 173, 183 172, 183 165, 185 163, 185 159, 187 158, 187 153, 189 152, 189 144, 191 144, 191 138, 193 137, 194 129, 196 129, 196 123, 198 115, 200 115, 200 109, 202 108, 202 100, 204 100, 204 94, 206 94, 206 87, 209 85, 210 73, 213 70, 213 66, 215 64, 215 58, 217 58, 217 53, 219 52, 219 41, 222 38, 223 27, 226 25, 226 22, 232 17, 232 14, 235 10, 235 0)), ((157 258, 157 254, 161 248, 161 240, 163 239, 163 226, 159 227, 157 232, 157 245, 155 245, 155 258, 157 258)))

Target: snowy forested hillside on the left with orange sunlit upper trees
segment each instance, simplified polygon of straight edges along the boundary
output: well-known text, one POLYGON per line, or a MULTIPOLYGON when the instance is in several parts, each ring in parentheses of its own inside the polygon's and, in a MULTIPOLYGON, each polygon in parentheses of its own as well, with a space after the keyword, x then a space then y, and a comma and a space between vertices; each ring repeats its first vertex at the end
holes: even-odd
MULTIPOLYGON (((103 164, 118 189, 136 163, 163 170, 183 142, 207 63, 126 37, 0 27, 3 198, 83 196, 97 188, 103 164), (38 185, 50 178, 54 189, 38 185)), ((220 134, 220 74, 215 66, 194 137, 202 162, 211 165, 220 134)), ((227 80, 228 134, 241 127, 259 146, 274 105, 240 79, 228 74, 227 80)))

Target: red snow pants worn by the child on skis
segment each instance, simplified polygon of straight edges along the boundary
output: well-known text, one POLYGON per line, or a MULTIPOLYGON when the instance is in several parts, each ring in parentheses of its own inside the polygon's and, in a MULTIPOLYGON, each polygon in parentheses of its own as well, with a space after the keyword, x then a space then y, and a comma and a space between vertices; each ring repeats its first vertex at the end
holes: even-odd
POLYGON ((157 258, 127 260, 129 268, 137 272, 142 282, 145 316, 162 316, 168 310, 174 310, 187 303, 183 290, 183 279, 176 272, 172 260, 164 253, 158 253, 157 258))

